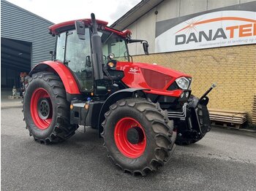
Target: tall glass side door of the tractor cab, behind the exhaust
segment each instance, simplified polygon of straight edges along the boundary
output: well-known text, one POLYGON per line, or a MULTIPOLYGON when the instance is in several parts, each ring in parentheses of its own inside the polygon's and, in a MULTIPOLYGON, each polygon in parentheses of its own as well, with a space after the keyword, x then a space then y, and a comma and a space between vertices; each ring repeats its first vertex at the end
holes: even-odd
POLYGON ((56 45, 56 59, 66 64, 77 79, 81 92, 94 90, 91 66, 91 43, 89 28, 86 39, 79 39, 75 30, 59 34, 56 45))

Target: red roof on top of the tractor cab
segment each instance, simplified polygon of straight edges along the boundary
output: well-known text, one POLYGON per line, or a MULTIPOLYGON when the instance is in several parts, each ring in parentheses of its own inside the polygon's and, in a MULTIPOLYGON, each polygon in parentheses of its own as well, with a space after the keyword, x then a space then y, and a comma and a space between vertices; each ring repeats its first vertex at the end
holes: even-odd
MULTIPOLYGON (((55 35, 58 35, 64 31, 69 31, 69 30, 72 30, 72 29, 75 29, 75 21, 77 20, 69 20, 69 21, 66 21, 66 22, 63 22, 63 23, 59 23, 59 24, 55 24, 53 26, 50 26, 49 27, 49 33, 52 34, 53 36, 55 35)), ((78 21, 83 21, 83 23, 85 23, 86 26, 91 26, 91 19, 89 18, 86 18, 86 19, 78 19, 78 21)), ((103 21, 103 20, 96 20, 99 28, 102 28, 102 30, 105 30, 105 31, 110 31, 110 32, 113 32, 119 36, 122 36, 122 37, 129 37, 132 32, 129 31, 129 30, 124 30, 124 31, 118 31, 114 28, 110 28, 108 27, 108 22, 106 21, 103 21)))

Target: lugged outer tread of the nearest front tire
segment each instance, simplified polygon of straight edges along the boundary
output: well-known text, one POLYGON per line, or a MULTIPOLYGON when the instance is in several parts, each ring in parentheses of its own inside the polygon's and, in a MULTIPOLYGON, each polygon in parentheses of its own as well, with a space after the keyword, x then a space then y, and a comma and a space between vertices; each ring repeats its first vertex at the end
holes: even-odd
MULTIPOLYGON (((168 126, 168 118, 162 109, 160 109, 157 104, 147 101, 145 98, 127 98, 117 101, 116 104, 110 106, 110 110, 105 114, 105 120, 102 122, 103 132, 102 137, 105 138, 105 129, 106 121, 110 117, 111 113, 118 107, 129 106, 133 107, 146 116, 148 122, 151 122, 152 132, 154 132, 154 141, 156 148, 154 149, 154 158, 147 163, 146 166, 141 167, 140 169, 132 170, 122 167, 118 164, 118 161, 115 160, 112 153, 110 153, 108 147, 104 146, 107 149, 108 157, 113 161, 115 165, 121 168, 124 172, 129 172, 133 176, 146 176, 152 171, 157 171, 158 168, 164 165, 167 160, 170 158, 171 150, 173 149, 173 142, 171 141, 173 127, 168 126), (157 130, 154 130, 154 124, 158 124, 157 130)), ((170 124, 170 123, 169 123, 170 124)), ((105 144, 104 144, 105 145, 105 144)))

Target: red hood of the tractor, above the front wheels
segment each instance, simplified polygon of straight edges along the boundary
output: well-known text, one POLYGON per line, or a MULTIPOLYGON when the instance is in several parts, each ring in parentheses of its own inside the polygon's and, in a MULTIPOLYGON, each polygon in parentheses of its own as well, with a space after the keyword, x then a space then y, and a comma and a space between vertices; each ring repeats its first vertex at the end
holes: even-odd
POLYGON ((183 90, 171 89, 170 85, 176 83, 179 77, 186 77, 189 83, 192 77, 173 69, 148 63, 118 62, 116 70, 124 71, 124 82, 128 87, 149 89, 150 93, 180 96, 183 90))

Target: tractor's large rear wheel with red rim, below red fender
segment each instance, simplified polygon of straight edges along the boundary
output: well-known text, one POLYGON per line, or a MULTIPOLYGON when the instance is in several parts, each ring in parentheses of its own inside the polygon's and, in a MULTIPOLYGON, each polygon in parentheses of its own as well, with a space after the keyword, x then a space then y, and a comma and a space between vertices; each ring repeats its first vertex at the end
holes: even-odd
POLYGON ((59 76, 52 72, 38 72, 29 78, 23 98, 23 114, 29 135, 34 136, 34 140, 40 143, 49 144, 64 141, 74 135, 78 128, 77 125, 70 125, 69 123, 69 102, 66 99, 64 85, 59 76), (41 92, 38 92, 39 90, 41 92), (50 118, 42 120, 42 118, 34 117, 39 116, 39 106, 34 104, 34 101, 37 101, 36 95, 40 96, 40 93, 48 93, 49 95, 48 105, 50 106, 51 122, 48 123, 46 120, 49 121, 50 118), (35 112, 36 110, 37 112, 35 112), (33 111, 34 114, 31 114, 33 111), (38 120, 47 124, 47 128, 41 125, 38 120))

